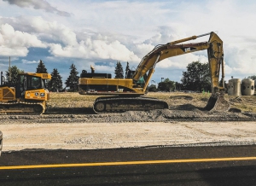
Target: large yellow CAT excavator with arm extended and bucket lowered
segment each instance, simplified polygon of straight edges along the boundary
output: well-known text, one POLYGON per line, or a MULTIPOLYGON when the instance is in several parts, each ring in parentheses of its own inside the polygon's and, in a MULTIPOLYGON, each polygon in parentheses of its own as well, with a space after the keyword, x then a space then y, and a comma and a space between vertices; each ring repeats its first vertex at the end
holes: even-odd
POLYGON ((212 80, 212 96, 207 102, 206 109, 227 111, 230 103, 224 100, 224 87, 218 86, 220 69, 224 79, 223 41, 215 32, 155 46, 143 57, 136 71, 128 72, 127 78, 111 78, 111 74, 108 73, 87 73, 83 70, 79 78, 79 94, 107 95, 98 97, 94 102, 93 109, 96 113, 168 108, 166 102, 143 96, 154 73, 155 65, 166 58, 203 49, 207 49, 212 80), (210 35, 207 42, 181 44, 207 35, 210 35))

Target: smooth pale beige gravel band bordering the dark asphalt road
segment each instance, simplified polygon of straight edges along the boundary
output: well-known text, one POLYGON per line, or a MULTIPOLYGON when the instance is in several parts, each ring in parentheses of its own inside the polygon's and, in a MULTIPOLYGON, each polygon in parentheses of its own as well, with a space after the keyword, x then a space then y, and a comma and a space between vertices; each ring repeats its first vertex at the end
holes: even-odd
POLYGON ((3 151, 256 144, 256 122, 14 122, 1 131, 3 151))

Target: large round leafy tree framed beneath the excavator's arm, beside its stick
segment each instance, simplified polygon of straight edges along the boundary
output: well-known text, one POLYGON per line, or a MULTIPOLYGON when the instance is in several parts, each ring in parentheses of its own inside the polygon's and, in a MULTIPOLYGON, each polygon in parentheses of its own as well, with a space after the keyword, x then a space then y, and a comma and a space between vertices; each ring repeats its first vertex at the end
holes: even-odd
POLYGON ((200 61, 189 63, 181 82, 185 90, 212 90, 209 65, 200 61))

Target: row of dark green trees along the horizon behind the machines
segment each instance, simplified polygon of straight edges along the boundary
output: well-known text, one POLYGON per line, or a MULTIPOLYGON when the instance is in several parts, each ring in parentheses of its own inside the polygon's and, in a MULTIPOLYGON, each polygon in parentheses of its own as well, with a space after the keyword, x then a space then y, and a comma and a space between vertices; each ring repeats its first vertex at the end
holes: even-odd
MULTIPOLYGON (((211 91, 211 77, 209 71, 209 65, 207 63, 201 63, 200 61, 193 61, 189 63, 186 67, 186 71, 183 72, 183 77, 181 78, 181 83, 170 80, 169 78, 161 79, 161 82, 156 83, 152 80, 151 85, 148 86, 148 91, 175 91, 175 90, 191 90, 191 91, 211 91), (163 81, 162 81, 163 80, 163 81), (158 86, 156 86, 158 84, 158 86)), ((69 91, 78 91, 79 90, 79 72, 74 64, 70 67, 70 73, 65 81, 66 87, 62 87, 62 77, 58 72, 57 68, 54 68, 49 81, 48 89, 50 91, 63 91, 69 87, 69 91)), ((9 78, 9 71, 6 71, 6 76, 10 84, 15 84, 17 82, 18 73, 24 73, 23 70, 20 70, 18 67, 13 66, 9 69, 11 71, 11 79, 9 78)), ((114 70, 114 78, 128 78, 128 72, 130 71, 129 62, 127 61, 125 67, 125 75, 122 64, 120 61, 117 61, 116 67, 114 70)), ((47 68, 44 65, 42 60, 39 61, 36 73, 48 73, 47 68)), ((256 76, 249 76, 256 80, 256 76)), ((222 85, 222 80, 219 82, 222 85)))

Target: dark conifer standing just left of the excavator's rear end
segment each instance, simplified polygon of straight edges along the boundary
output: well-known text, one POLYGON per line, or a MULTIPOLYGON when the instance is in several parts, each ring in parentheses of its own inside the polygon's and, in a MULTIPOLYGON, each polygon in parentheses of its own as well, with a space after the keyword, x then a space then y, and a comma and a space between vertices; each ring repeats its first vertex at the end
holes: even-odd
POLYGON ((71 91, 78 91, 79 90, 79 72, 74 64, 71 65, 70 74, 65 82, 67 87, 70 88, 71 91))

